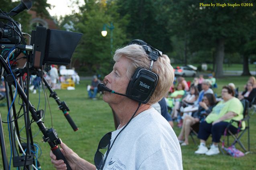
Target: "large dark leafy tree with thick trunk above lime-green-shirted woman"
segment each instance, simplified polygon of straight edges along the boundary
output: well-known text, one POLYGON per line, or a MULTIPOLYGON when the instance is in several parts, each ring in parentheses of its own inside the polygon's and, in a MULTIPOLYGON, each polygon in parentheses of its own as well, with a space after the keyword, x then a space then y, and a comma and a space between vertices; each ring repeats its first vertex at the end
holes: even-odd
MULTIPOLYGON (((215 76, 223 76, 223 59, 225 46, 234 37, 246 36, 255 21, 255 8, 231 6, 200 6, 203 4, 235 4, 236 2, 224 0, 172 0, 171 25, 179 35, 185 34, 189 38, 192 51, 200 49, 215 49, 215 76), (245 19, 246 18, 246 19, 245 19), (253 21, 254 20, 254 21, 253 21)), ((241 0, 239 3, 247 2, 241 0)), ((238 3, 237 3, 238 4, 238 3)))

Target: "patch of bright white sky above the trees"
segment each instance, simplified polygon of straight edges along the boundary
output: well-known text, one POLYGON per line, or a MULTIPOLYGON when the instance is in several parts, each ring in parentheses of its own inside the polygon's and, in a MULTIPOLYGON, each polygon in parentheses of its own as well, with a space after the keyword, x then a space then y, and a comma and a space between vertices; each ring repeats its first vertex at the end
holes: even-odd
MULTIPOLYGON (((52 5, 52 9, 49 10, 51 16, 65 16, 71 14, 72 10, 78 10, 78 6, 72 7, 72 1, 74 0, 47 0, 48 4, 52 5)), ((85 4, 84 0, 79 0, 79 6, 85 4)))

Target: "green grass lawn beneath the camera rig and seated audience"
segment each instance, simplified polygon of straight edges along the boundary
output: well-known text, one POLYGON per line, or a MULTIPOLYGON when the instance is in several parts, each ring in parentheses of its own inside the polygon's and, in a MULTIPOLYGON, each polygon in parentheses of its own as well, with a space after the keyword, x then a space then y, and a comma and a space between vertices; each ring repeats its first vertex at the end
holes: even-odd
MULTIPOLYGON (((218 88, 213 89, 217 95, 220 95, 221 87, 225 84, 233 82, 240 90, 243 89, 244 84, 248 80, 248 77, 226 77, 223 79, 218 79, 218 88)), ((109 131, 114 130, 114 121, 112 116, 112 111, 108 104, 102 101, 101 98, 98 100, 89 100, 87 98, 86 84, 88 81, 82 81, 81 84, 75 87, 75 90, 56 90, 60 100, 65 101, 69 106, 69 113, 73 118, 79 130, 73 132, 73 129, 63 116, 63 113, 58 110, 57 103, 53 98, 49 98, 50 109, 48 103, 45 101, 43 93, 41 93, 40 106, 39 109, 44 109, 46 104, 45 112, 45 126, 55 128, 58 132, 59 137, 65 142, 70 148, 72 148, 79 156, 85 158, 89 162, 93 163, 93 157, 98 146, 98 142, 104 134, 109 131), (52 122, 52 123, 51 123, 52 122)), ((47 91, 47 96, 49 96, 49 91, 47 91)), ((38 107, 39 94, 30 94, 30 101, 38 107)), ((19 109, 18 100, 16 100, 16 110, 19 109)), ((2 120, 6 121, 7 111, 6 107, 0 107, 0 112, 2 120)), ((24 118, 19 119, 19 129, 24 126, 24 118)), ((10 144, 8 137, 7 125, 3 124, 5 142, 7 147, 8 160, 10 160, 10 144)), ((39 162, 43 170, 53 170, 54 167, 51 164, 49 157, 50 147, 47 143, 42 143, 42 133, 38 131, 37 125, 33 123, 31 125, 33 131, 33 138, 35 143, 38 143, 42 149, 42 154, 39 158, 39 162)), ((176 134, 178 135, 180 129, 177 128, 175 123, 174 128, 176 134)), ((246 144, 246 135, 242 137, 242 141, 246 144)), ((25 137, 24 130, 21 131, 21 136, 25 137)), ((251 116, 250 119, 250 142, 251 151, 256 152, 256 114, 251 116)), ((25 140, 23 140, 25 141, 25 140)), ((199 140, 197 140, 199 142, 199 140)), ((183 168, 184 170, 216 170, 216 169, 226 169, 226 170, 255 170, 256 156, 255 154, 247 154, 242 158, 233 158, 228 155, 216 155, 216 156, 205 156, 205 155, 195 155, 194 151, 197 150, 197 145, 193 144, 190 139, 189 146, 183 146, 182 156, 183 156, 183 168)), ((211 138, 207 141, 207 145, 211 144, 211 138)), ((238 147, 239 148, 239 147, 238 147)), ((1 157, 1 156, 0 156, 1 157)), ((170 160, 171 161, 171 160, 170 160)), ((2 170, 2 161, 0 161, 0 170, 2 170)), ((12 168, 15 170, 16 168, 12 168)), ((22 168, 23 169, 23 168, 22 168)))

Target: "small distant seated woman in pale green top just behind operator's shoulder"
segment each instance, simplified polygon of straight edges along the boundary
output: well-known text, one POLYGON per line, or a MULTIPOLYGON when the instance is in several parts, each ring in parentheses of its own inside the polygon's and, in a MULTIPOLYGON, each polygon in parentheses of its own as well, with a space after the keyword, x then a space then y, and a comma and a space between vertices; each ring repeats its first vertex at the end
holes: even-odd
MULTIPOLYGON (((178 83, 177 84, 177 90, 175 90, 171 95, 170 97, 167 99, 167 104, 169 105, 170 107, 170 104, 172 103, 172 106, 174 108, 179 108, 179 104, 180 104, 180 101, 181 101, 181 98, 184 96, 185 94, 185 85, 183 83, 178 83)), ((173 112, 171 114, 171 116, 173 118, 177 118, 177 110, 176 109, 173 109, 173 112)))

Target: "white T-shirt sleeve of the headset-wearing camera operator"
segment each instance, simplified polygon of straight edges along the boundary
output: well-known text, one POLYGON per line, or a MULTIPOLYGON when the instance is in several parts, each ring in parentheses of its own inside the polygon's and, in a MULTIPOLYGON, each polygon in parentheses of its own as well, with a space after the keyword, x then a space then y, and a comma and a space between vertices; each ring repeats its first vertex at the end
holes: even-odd
POLYGON ((178 153, 161 149, 142 162, 138 170, 183 170, 178 153))

